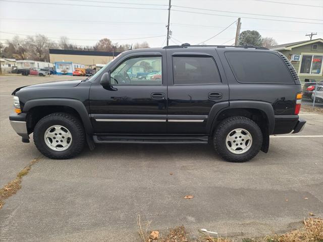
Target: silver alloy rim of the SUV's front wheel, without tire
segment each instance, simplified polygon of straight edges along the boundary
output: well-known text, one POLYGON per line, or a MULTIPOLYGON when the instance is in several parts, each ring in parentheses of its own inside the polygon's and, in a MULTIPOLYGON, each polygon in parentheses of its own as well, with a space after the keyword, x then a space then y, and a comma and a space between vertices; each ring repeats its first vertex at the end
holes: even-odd
POLYGON ((46 145, 55 151, 68 149, 72 144, 72 134, 61 125, 50 126, 44 134, 46 145))

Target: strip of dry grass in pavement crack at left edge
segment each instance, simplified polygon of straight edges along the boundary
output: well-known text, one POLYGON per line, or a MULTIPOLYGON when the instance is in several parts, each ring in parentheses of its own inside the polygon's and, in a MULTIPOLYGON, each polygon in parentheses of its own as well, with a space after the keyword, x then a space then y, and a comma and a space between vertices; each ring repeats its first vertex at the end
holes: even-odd
POLYGON ((27 175, 29 170, 31 169, 31 166, 38 162, 40 159, 41 157, 33 159, 17 174, 17 177, 15 179, 10 181, 10 183, 8 183, 4 188, 0 189, 0 209, 2 209, 2 207, 4 206, 5 200, 7 198, 17 193, 17 191, 21 188, 22 177, 27 175))

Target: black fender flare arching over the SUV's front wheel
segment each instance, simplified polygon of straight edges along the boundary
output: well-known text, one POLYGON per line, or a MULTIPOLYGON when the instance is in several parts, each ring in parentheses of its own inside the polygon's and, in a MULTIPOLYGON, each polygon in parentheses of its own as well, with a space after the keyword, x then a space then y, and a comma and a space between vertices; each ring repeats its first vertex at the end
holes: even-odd
POLYGON ((25 103, 23 112, 28 112, 31 108, 37 106, 68 106, 75 109, 80 115, 84 130, 87 134, 93 134, 93 127, 89 117, 89 113, 86 110, 84 104, 80 100, 71 98, 39 98, 32 99, 25 103))

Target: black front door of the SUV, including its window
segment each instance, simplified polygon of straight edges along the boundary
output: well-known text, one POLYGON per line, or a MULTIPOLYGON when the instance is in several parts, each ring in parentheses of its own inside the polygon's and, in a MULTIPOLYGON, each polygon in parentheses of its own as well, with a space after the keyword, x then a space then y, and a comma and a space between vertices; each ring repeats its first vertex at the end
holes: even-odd
POLYGON ((167 83, 165 50, 125 55, 111 70, 110 88, 95 80, 90 89, 96 134, 165 134, 167 83))

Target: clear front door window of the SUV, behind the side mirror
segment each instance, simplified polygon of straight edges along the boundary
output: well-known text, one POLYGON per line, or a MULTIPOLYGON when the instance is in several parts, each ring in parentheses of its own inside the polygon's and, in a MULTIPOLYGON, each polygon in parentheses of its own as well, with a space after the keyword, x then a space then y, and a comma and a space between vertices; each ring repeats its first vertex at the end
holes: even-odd
POLYGON ((161 85, 161 56, 133 57, 111 73, 113 85, 161 85))

